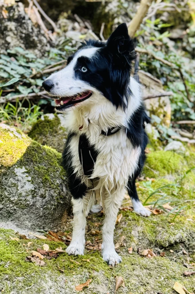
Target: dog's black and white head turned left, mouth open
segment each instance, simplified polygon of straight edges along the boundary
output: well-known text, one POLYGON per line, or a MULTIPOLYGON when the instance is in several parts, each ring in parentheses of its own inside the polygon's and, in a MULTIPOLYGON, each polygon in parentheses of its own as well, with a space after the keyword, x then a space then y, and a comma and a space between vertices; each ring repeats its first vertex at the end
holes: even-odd
POLYGON ((43 87, 51 95, 58 96, 57 111, 92 102, 93 98, 98 99, 97 94, 116 107, 125 107, 130 94, 131 61, 135 57, 127 25, 121 24, 107 42, 83 42, 68 58, 67 66, 51 74, 43 82, 43 87))

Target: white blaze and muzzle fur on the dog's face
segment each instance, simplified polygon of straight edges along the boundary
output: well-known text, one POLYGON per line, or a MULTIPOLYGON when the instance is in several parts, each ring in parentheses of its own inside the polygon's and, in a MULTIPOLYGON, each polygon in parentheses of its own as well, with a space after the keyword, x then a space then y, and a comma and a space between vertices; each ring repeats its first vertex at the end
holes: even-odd
POLYGON ((85 56, 88 58, 93 58, 95 57, 95 53, 98 49, 99 48, 93 47, 78 50, 73 57, 73 60, 68 64, 68 66, 65 67, 65 69, 51 74, 51 76, 47 78, 51 79, 54 84, 50 94, 65 97, 73 96, 77 93, 81 93, 87 90, 94 91, 95 89, 88 85, 88 83, 75 78, 74 67, 79 57, 85 56))

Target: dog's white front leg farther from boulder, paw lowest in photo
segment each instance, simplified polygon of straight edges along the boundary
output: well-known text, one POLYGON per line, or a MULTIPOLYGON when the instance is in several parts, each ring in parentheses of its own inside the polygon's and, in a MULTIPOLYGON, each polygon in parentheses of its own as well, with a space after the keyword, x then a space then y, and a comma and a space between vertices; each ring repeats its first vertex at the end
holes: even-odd
POLYGON ((113 195, 107 195, 103 201, 103 210, 105 220, 102 229, 102 257, 108 264, 114 266, 122 261, 122 258, 116 253, 114 245, 114 229, 118 209, 121 205, 125 191, 115 192, 113 195))

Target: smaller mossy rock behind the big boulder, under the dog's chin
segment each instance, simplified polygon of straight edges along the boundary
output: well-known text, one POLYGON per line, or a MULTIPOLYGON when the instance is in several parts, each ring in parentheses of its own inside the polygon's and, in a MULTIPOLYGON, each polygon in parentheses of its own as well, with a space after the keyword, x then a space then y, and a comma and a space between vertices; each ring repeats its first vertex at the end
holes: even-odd
POLYGON ((62 153, 67 139, 63 115, 49 113, 33 124, 28 136, 41 145, 47 145, 62 153))

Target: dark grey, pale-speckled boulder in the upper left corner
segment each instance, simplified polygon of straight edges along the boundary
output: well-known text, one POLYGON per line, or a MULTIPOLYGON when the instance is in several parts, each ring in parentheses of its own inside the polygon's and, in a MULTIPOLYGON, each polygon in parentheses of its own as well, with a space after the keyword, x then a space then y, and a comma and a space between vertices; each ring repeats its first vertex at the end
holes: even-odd
POLYGON ((50 49, 45 33, 33 24, 21 2, 9 7, 0 5, 0 27, 0 53, 21 47, 41 57, 50 49))

